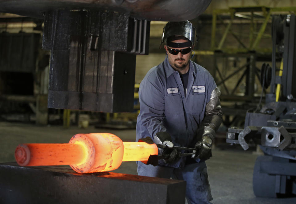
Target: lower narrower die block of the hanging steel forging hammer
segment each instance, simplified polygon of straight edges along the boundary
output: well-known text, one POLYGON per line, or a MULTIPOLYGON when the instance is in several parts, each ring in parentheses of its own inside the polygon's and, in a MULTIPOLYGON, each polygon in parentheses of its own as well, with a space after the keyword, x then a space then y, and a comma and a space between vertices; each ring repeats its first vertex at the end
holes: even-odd
MULTIPOLYGON (((133 110, 136 55, 115 51, 95 52, 89 65, 99 60, 101 66, 93 63, 93 66, 83 64, 80 67, 70 66, 75 61, 69 57, 65 60, 67 53, 68 50, 51 52, 49 108, 101 112, 133 110), (101 58, 98 54, 101 54, 101 58)), ((83 57, 87 58, 88 55, 83 57)))

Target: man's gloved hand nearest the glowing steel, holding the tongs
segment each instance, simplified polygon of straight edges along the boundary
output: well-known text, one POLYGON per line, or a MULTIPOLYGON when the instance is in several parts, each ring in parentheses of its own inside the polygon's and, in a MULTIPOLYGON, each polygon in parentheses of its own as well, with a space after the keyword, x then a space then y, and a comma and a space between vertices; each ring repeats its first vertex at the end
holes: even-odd
POLYGON ((176 149, 172 149, 174 144, 170 134, 167 132, 158 132, 154 135, 154 142, 157 145, 162 145, 162 148, 158 148, 158 155, 170 155, 169 158, 164 159, 166 163, 175 161, 178 151, 176 149))

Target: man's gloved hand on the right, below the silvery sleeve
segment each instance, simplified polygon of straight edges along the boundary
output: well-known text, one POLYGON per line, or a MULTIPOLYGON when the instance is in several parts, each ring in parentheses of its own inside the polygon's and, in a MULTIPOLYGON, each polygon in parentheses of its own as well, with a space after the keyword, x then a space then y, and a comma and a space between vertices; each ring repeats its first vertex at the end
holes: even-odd
MULTIPOLYGON (((212 143, 213 134, 215 135, 215 130, 208 126, 204 126, 202 130, 197 132, 197 137, 202 136, 199 142, 196 142, 194 148, 199 149, 198 153, 193 154, 191 157, 199 157, 201 160, 207 160, 212 157, 212 143)), ((193 151, 195 153, 195 151, 193 151)))

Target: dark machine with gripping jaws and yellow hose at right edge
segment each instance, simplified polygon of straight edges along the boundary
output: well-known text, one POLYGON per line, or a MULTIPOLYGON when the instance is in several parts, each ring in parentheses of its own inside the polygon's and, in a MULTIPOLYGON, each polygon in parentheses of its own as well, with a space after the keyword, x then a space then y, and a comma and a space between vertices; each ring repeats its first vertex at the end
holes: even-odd
POLYGON ((296 194, 295 15, 275 15, 272 26, 272 65, 263 64, 261 70, 262 94, 270 86, 265 104, 249 110, 244 129, 229 128, 226 139, 244 150, 251 143, 258 144, 264 152, 254 166, 257 197, 296 194))

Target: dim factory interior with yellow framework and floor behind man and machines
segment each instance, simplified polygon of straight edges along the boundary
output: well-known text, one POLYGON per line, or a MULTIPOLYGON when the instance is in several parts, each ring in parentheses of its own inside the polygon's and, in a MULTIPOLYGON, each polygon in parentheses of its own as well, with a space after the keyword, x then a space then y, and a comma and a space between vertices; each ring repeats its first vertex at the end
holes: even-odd
MULTIPOLYGON (((223 122, 213 157, 206 162, 215 204, 296 203, 295 194, 256 196, 254 165, 264 153, 254 142, 248 150, 227 142, 228 128, 244 129, 247 111, 264 106, 270 92, 271 86, 262 88, 262 82, 268 81, 262 73, 273 63, 273 16, 295 12, 293 0, 212 0, 202 14, 190 19, 198 38, 191 60, 205 67, 221 90, 223 122)), ((134 142, 138 89, 145 74, 166 57, 163 46, 159 47, 166 23, 150 22, 149 54, 136 55, 132 110, 103 112, 48 108, 51 51, 42 49, 43 19, 0 13, 0 163, 15 162, 19 144, 68 143, 79 133, 112 133, 134 142)), ((274 64, 279 69, 281 60, 274 64)), ((293 70, 295 76, 295 66, 293 70)), ((137 166, 123 162, 113 172, 137 175, 137 166)), ((296 185, 292 186, 296 192, 296 185)))

